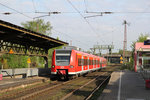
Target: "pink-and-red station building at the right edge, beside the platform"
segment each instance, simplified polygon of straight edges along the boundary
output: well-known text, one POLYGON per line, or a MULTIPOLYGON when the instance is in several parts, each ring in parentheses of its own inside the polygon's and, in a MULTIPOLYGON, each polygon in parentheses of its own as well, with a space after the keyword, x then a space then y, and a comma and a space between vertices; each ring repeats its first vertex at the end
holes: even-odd
POLYGON ((134 70, 139 72, 150 69, 150 38, 144 42, 135 43, 134 70))

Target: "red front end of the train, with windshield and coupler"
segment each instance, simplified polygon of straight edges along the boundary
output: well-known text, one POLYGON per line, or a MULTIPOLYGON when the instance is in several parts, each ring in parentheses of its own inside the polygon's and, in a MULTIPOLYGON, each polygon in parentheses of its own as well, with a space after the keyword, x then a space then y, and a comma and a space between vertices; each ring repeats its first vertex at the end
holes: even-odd
POLYGON ((51 74, 58 78, 68 78, 70 71, 74 71, 71 62, 72 50, 57 49, 53 52, 51 74))

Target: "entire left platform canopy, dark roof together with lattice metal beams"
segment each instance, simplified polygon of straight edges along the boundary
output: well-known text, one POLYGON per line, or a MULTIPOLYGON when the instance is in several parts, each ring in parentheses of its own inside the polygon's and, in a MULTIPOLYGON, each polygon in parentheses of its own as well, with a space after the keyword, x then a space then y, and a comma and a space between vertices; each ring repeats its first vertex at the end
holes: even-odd
POLYGON ((48 60, 48 50, 61 45, 68 43, 0 20, 0 54, 42 56, 48 60))

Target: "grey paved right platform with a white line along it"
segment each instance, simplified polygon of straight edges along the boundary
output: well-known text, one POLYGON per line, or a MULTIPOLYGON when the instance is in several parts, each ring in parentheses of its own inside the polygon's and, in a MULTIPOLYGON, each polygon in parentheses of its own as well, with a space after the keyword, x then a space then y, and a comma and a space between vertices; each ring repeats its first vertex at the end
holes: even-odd
POLYGON ((113 72, 106 89, 98 100, 150 100, 150 90, 139 73, 113 72))

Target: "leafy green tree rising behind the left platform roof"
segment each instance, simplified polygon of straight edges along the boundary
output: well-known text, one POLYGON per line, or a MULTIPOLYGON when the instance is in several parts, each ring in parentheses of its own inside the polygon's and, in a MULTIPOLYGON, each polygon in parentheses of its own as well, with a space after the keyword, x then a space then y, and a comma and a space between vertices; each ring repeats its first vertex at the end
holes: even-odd
POLYGON ((51 35, 52 26, 50 22, 44 22, 43 19, 23 22, 21 23, 21 25, 24 28, 32 30, 32 31, 39 32, 45 35, 51 35))

